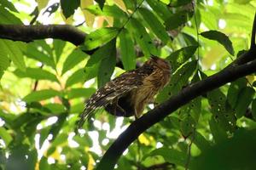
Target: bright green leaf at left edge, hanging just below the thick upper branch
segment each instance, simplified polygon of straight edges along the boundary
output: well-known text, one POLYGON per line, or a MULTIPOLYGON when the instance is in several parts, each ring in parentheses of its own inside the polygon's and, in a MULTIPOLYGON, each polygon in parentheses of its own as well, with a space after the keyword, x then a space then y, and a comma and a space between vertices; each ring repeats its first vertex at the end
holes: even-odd
POLYGON ((20 42, 0 40, 1 53, 8 56, 21 71, 26 71, 25 60, 20 48, 18 47, 19 44, 20 42))

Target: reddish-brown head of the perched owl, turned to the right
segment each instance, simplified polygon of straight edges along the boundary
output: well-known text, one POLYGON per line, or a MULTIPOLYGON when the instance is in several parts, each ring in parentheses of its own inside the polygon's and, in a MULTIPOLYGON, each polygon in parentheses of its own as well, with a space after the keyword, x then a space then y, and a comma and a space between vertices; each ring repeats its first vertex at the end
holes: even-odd
POLYGON ((151 56, 151 58, 148 59, 146 64, 152 65, 152 66, 157 66, 158 68, 160 68, 161 70, 166 71, 166 72, 172 71, 172 67, 168 60, 160 59, 159 57, 156 57, 156 56, 151 56))

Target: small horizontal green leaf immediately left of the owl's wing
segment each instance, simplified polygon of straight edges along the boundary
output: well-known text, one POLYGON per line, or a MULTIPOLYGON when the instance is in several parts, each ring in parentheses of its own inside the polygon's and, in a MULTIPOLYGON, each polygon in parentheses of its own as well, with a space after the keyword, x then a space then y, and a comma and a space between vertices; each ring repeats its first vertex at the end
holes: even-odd
POLYGON ((67 91, 67 99, 90 97, 95 92, 95 88, 71 88, 67 91))

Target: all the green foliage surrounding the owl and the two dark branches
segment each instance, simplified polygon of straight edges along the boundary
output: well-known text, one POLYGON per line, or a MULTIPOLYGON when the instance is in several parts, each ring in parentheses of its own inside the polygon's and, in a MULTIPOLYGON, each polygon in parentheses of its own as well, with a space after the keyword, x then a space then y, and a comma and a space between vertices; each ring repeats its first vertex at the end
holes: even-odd
MULTIPOLYGON (((30 3, 0 0, 0 25, 64 21, 87 36, 79 47, 0 39, 0 169, 94 169, 134 121, 100 110, 75 134, 97 87, 154 54, 172 64, 159 105, 247 50, 256 8, 253 0, 30 3)), ((116 168, 253 169, 255 83, 254 75, 242 77, 183 105, 131 144, 116 168)))

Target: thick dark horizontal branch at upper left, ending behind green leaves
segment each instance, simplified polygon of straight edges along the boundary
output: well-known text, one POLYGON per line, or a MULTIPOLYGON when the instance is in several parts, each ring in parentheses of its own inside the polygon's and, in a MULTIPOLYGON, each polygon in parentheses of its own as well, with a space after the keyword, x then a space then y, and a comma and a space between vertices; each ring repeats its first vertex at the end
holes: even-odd
POLYGON ((86 34, 69 25, 0 25, 0 38, 13 41, 32 42, 33 40, 55 38, 80 45, 86 34))

